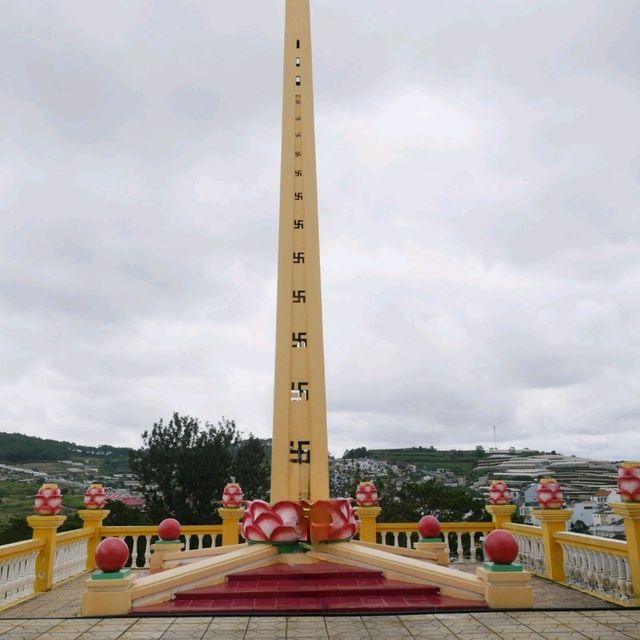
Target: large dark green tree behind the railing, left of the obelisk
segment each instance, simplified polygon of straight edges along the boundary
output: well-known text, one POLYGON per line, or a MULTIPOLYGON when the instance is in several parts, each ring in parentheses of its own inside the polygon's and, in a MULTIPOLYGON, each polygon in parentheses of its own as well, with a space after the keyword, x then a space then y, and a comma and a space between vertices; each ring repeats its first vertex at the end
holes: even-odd
MULTIPOLYGON (((155 423, 142 434, 143 447, 129 457, 152 522, 217 522, 217 502, 232 477, 243 489, 266 486, 264 450, 261 459, 256 440, 243 441, 234 421, 225 418, 201 427, 197 418, 174 413, 167 424, 155 423)), ((254 497, 247 489, 245 495, 254 497)))

